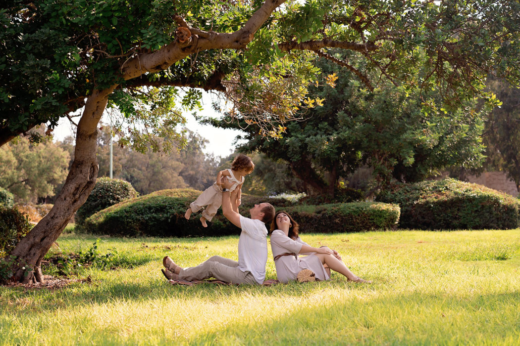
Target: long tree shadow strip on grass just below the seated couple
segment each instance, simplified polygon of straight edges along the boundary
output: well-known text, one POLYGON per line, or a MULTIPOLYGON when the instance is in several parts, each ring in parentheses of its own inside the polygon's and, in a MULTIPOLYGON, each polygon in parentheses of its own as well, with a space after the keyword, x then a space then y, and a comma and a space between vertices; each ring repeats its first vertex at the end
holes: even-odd
MULTIPOLYGON (((154 300, 167 297, 183 297, 185 299, 197 298, 218 301, 220 299, 230 299, 233 297, 240 298, 242 296, 266 296, 277 297, 280 295, 304 297, 312 295, 320 290, 333 289, 349 289, 360 290, 366 292, 370 285, 350 283, 339 278, 333 277, 332 281, 304 283, 299 284, 292 282, 289 284, 275 284, 271 286, 256 285, 220 285, 220 284, 198 284, 194 286, 172 285, 166 281, 160 269, 155 272, 157 276, 149 276, 148 280, 140 282, 128 282, 131 275, 126 278, 123 275, 123 282, 114 282, 107 279, 94 279, 90 283, 72 283, 67 287, 57 290, 48 289, 24 289, 23 287, 9 288, 4 298, 11 300, 23 299, 25 301, 34 301, 32 305, 37 306, 38 311, 53 311, 57 306, 61 308, 67 306, 83 305, 85 303, 114 303, 118 300, 125 302, 154 300)), ((339 274, 335 274, 339 275, 339 274)), ((121 273, 118 273, 121 277, 121 273)), ((6 292, 6 291, 5 291, 6 292)))

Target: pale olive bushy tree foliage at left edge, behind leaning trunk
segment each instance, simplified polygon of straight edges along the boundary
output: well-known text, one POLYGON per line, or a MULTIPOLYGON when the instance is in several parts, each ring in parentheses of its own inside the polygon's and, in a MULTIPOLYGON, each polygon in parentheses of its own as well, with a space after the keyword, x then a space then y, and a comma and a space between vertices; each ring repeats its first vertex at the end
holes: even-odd
POLYGON ((36 202, 54 195, 67 177, 69 154, 47 139, 31 143, 20 137, 0 147, 0 187, 9 190, 17 202, 36 202))

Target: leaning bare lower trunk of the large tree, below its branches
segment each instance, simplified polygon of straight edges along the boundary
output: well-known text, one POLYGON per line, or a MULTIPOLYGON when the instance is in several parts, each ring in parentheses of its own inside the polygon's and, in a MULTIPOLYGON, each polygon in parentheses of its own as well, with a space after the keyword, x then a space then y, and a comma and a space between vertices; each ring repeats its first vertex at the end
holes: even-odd
POLYGON ((98 173, 97 126, 107 105, 108 95, 112 91, 113 88, 97 90, 88 98, 77 126, 74 161, 65 185, 61 189, 53 209, 11 252, 11 256, 17 258, 14 280, 43 281, 40 267, 43 257, 94 188, 98 173))

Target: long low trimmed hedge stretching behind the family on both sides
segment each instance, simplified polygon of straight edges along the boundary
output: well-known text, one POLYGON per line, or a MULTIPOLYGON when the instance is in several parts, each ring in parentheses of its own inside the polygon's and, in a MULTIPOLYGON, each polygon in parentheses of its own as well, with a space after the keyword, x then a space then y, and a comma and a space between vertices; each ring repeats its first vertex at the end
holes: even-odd
MULTIPOLYGON (((190 237, 225 236, 239 234, 220 210, 209 227, 202 227, 199 214, 192 214, 190 220, 184 218, 189 204, 201 191, 191 189, 162 190, 150 195, 137 197, 108 207, 85 220, 83 229, 92 233, 112 236, 152 236, 190 237)), ((254 196, 243 196, 241 213, 259 202, 269 202, 254 196)), ((279 200, 279 199, 276 199, 279 200)), ((276 202, 276 201, 275 201, 276 202)), ((291 202, 278 201, 280 204, 291 202)), ((297 217, 298 223, 305 224, 303 230, 312 232, 353 232, 371 229, 388 229, 399 219, 399 208, 384 203, 346 203, 323 206, 276 206, 277 210, 287 210, 297 217), (311 211, 312 210, 312 211, 311 211), (317 216, 311 216, 316 213, 317 216)))

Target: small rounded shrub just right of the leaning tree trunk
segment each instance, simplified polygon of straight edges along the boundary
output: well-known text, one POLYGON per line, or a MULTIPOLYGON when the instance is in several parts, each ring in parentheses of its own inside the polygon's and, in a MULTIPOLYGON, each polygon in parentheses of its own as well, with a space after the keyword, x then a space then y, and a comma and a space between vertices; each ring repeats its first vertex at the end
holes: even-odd
POLYGON ((99 178, 90 196, 76 212, 76 224, 82 225, 87 217, 108 206, 137 197, 132 184, 121 179, 99 178))

